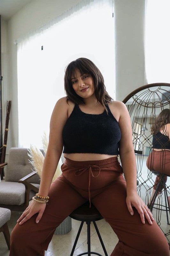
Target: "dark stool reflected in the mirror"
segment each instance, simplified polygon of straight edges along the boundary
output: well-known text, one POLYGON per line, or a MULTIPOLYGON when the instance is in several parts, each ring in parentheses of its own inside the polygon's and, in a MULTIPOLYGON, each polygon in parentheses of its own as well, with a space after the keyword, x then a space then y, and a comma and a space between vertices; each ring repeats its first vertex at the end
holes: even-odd
MULTIPOLYGON (((148 204, 148 208, 150 209, 150 211, 152 212, 152 209, 155 208, 155 209, 160 209, 160 206, 161 206, 161 210, 162 211, 166 211, 166 218, 167 218, 167 224, 169 225, 169 218, 168 218, 168 212, 169 212, 169 215, 170 215, 170 205, 168 203, 168 194, 167 194, 167 189, 166 189, 166 183, 164 181, 164 176, 165 174, 164 173, 160 173, 160 172, 155 172, 155 171, 152 171, 152 173, 154 173, 155 175, 160 175, 160 180, 157 184, 157 188, 155 190, 155 193, 152 197, 152 200, 150 202, 150 204, 148 204), (163 188, 164 188, 164 195, 165 195, 165 205, 162 205, 162 204, 155 204, 155 199, 157 197, 157 194, 158 194, 158 190, 159 190, 159 187, 161 186, 161 184, 163 185, 163 188), (154 205, 157 205, 157 207, 154 207, 154 205), (158 208, 159 207, 159 208, 158 208), (164 207, 165 209, 162 209, 162 207, 164 207)), ((167 175, 166 176, 170 177, 170 175, 167 175)))

